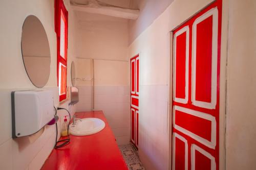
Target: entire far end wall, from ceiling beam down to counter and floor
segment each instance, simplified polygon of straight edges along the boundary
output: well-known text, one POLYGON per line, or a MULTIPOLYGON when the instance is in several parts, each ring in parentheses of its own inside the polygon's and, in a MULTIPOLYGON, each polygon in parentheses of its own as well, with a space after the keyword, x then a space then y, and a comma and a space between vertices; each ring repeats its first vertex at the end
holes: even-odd
POLYGON ((130 141, 127 20, 76 12, 79 20, 77 111, 103 110, 118 144, 130 141), (94 59, 94 67, 92 67, 94 59), (94 96, 93 96, 94 71, 94 96))

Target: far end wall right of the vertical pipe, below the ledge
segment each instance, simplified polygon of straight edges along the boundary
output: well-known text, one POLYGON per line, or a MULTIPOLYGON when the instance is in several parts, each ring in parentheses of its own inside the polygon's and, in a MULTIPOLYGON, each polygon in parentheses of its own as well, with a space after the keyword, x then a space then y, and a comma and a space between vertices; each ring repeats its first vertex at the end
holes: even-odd
POLYGON ((95 110, 103 110, 118 144, 130 141, 129 62, 94 60, 95 110))

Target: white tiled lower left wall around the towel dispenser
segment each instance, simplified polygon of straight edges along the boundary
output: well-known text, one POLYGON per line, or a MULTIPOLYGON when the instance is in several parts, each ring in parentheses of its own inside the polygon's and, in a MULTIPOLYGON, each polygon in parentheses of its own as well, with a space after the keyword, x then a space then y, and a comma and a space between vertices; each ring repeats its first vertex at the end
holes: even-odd
MULTIPOLYGON (((53 91, 55 107, 58 106, 58 88, 45 89, 53 91)), ((0 124, 0 169, 40 169, 54 147, 56 129, 55 126, 47 125, 42 130, 42 134, 38 135, 36 139, 28 136, 12 139, 11 91, 14 90, 17 89, 0 90, 0 119, 3 120, 0 124)), ((69 102, 62 103, 60 107, 69 108, 69 102)), ((75 107, 70 107, 69 110, 71 114, 74 114, 75 107)), ((67 115, 63 110, 59 110, 57 114, 60 119, 63 119, 63 116, 67 115)), ((59 122, 58 128, 60 128, 59 122)))

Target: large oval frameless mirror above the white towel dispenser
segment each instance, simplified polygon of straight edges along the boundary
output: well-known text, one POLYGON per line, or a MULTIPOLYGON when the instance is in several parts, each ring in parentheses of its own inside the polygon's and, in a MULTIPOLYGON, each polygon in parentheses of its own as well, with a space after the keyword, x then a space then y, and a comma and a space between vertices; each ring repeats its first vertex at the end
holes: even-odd
POLYGON ((22 29, 22 56, 30 81, 36 87, 44 87, 50 75, 50 47, 41 21, 29 15, 22 29))

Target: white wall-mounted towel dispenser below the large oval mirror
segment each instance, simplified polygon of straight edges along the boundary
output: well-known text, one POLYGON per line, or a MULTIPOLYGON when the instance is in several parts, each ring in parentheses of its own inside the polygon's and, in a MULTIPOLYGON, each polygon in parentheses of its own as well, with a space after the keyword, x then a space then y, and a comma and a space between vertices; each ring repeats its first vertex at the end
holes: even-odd
POLYGON ((34 134, 54 117, 51 91, 13 91, 11 98, 12 138, 34 134))

